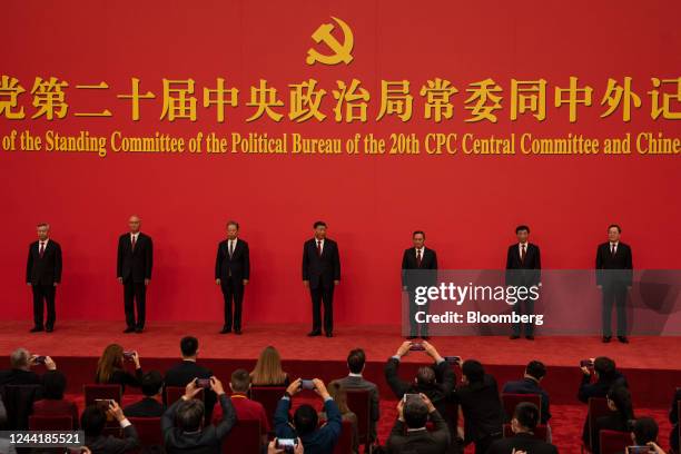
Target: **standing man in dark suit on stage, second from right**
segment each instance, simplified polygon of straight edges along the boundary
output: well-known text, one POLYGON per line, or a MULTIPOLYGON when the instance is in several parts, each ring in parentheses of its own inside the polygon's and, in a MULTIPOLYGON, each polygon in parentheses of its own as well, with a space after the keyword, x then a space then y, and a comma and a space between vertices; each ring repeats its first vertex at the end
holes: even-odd
MULTIPOLYGON (((525 287, 540 284, 542 260, 540 257, 539 246, 530 244, 530 227, 517 226, 515 228, 517 243, 509 246, 506 254, 506 286, 525 287)), ((524 293, 526 295, 526 293, 524 293)), ((513 310, 519 315, 534 314, 534 299, 532 297, 519 298, 513 310)), ((521 324, 513 324, 512 339, 517 339, 521 336, 521 324)), ((534 324, 525 324, 525 337, 529 340, 534 339, 534 324)))

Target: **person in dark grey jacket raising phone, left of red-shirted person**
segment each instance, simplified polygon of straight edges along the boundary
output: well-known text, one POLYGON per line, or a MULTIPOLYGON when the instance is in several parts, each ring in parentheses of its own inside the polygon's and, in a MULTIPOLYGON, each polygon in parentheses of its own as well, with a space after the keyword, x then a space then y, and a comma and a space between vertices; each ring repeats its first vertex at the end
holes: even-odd
POLYGON ((189 382, 182 398, 170 405, 161 417, 164 444, 168 454, 221 452, 223 438, 229 434, 237 418, 220 381, 210 377, 210 388, 218 396, 223 420, 217 424, 204 426, 204 403, 194 398, 201 388, 196 382, 189 382))

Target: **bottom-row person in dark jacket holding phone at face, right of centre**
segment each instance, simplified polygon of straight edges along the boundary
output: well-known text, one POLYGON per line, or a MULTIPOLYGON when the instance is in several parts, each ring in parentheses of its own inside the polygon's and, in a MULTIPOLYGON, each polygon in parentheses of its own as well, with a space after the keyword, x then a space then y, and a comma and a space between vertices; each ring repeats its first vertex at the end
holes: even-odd
POLYGON ((444 454, 450 446, 450 430, 425 394, 417 394, 397 404, 398 417, 386 442, 388 454, 444 454), (426 428, 428 421, 433 431, 426 428))

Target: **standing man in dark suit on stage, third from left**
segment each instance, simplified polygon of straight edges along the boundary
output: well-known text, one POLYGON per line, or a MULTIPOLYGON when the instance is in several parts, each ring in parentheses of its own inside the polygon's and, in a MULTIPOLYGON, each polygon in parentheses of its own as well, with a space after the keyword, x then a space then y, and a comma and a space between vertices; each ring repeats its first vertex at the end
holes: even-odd
POLYGON ((227 223, 227 239, 218 244, 215 259, 215 283, 220 286, 225 297, 225 325, 220 334, 231 333, 233 319, 234 333, 241 334, 241 303, 244 302, 244 288, 250 278, 250 259, 248 243, 239 239, 238 236, 239 224, 230 220, 227 223))

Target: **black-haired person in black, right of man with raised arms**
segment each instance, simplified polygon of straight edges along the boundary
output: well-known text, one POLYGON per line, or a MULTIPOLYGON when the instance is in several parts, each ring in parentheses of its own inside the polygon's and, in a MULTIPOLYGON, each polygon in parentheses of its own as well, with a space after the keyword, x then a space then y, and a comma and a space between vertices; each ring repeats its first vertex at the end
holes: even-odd
POLYGON ((503 435, 504 409, 499 388, 494 377, 485 374, 475 359, 463 363, 462 375, 456 397, 464 416, 464 443, 475 443, 475 454, 484 454, 503 435))

